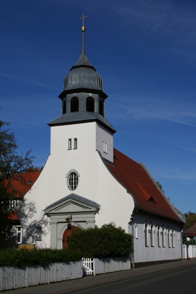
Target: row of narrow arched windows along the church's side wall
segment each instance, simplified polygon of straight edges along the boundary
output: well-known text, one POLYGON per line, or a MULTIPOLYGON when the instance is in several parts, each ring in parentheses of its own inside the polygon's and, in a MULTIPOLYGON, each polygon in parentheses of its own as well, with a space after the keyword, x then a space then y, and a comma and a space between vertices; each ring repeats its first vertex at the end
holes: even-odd
MULTIPOLYGON (((136 238, 137 237, 137 225, 136 225, 136 238)), ((151 245, 151 247, 154 246, 154 233, 155 233, 155 227, 152 225, 152 223, 147 224, 145 223, 144 225, 144 232, 145 232, 145 245, 148 247, 151 245)), ((175 231, 173 228, 164 228, 163 226, 157 225, 157 244, 158 247, 166 247, 166 235, 168 238, 168 247, 175 247, 174 246, 174 236, 175 236, 175 231)), ((179 240, 179 236, 178 236, 179 240)))

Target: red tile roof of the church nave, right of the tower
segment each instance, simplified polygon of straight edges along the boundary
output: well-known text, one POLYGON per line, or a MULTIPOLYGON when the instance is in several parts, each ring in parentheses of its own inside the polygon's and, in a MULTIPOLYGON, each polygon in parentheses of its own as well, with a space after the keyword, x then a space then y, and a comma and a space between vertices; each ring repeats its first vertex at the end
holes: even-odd
POLYGON ((114 163, 106 163, 106 166, 134 196, 138 210, 183 223, 180 212, 176 213, 177 209, 172 209, 172 204, 169 204, 142 164, 114 148, 114 163))

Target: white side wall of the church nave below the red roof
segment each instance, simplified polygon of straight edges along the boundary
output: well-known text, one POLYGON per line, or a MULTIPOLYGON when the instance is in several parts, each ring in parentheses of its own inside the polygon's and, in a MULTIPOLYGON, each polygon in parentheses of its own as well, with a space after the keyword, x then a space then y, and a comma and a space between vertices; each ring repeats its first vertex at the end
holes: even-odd
POLYGON ((134 235, 134 261, 153 262, 159 260, 173 260, 182 258, 181 251, 181 225, 177 222, 167 221, 164 218, 155 217, 150 214, 137 212, 133 216, 133 235, 134 235), (150 234, 148 234, 148 246, 145 245, 144 223, 152 223, 154 246, 151 246, 150 234), (137 229, 136 229, 137 226, 137 229), (165 247, 162 245, 162 236, 160 236, 160 247, 158 246, 157 226, 163 226, 166 229, 165 247), (167 229, 174 229, 174 247, 169 247, 167 229), (137 232, 136 232, 137 230, 137 232))

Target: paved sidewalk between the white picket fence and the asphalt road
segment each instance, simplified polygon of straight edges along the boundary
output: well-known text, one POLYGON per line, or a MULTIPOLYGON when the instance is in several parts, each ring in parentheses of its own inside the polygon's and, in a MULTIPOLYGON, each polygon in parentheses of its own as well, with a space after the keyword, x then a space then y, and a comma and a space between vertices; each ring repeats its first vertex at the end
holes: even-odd
POLYGON ((81 279, 51 283, 47 285, 38 285, 38 286, 33 286, 33 287, 23 288, 23 289, 9 290, 9 291, 4 291, 3 293, 57 294, 63 291, 70 291, 70 292, 72 291, 72 293, 74 293, 74 290, 78 288, 95 286, 95 285, 103 284, 103 283, 110 283, 112 281, 128 279, 131 277, 140 276, 140 275, 144 275, 144 274, 148 274, 148 273, 152 273, 156 271, 161 271, 161 270, 170 270, 170 269, 178 268, 178 267, 186 267, 193 264, 196 265, 196 260, 177 261, 177 262, 159 264, 155 266, 138 268, 135 270, 124 270, 124 271, 118 271, 118 272, 112 272, 112 273, 106 273, 106 274, 99 274, 95 276, 85 276, 81 279))

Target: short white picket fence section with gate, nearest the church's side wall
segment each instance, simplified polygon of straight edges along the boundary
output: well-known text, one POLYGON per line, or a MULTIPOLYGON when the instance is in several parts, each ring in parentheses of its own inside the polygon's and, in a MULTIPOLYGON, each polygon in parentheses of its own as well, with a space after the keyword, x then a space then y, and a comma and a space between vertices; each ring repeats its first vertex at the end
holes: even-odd
POLYGON ((129 257, 116 258, 83 258, 84 275, 96 275, 100 273, 130 270, 131 260, 129 257))

